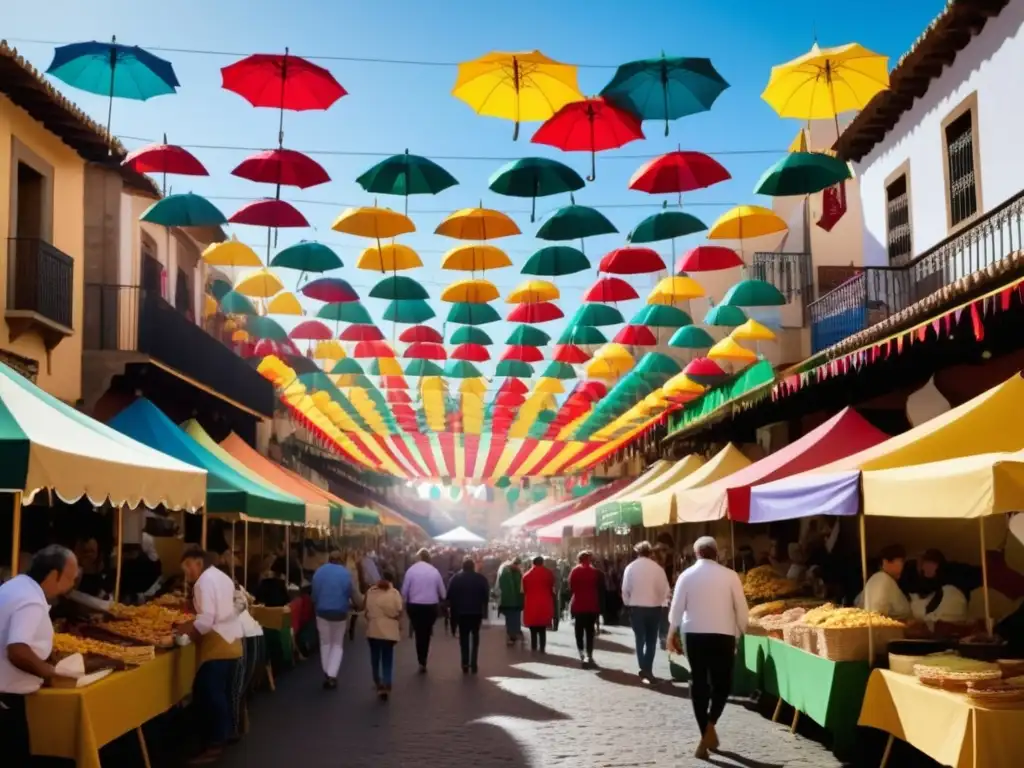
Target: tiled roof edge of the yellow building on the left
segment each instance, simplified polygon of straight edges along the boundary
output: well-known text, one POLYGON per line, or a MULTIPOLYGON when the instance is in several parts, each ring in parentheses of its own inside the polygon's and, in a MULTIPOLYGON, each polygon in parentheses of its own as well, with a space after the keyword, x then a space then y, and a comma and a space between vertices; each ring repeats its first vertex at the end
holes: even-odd
POLYGON ((39 70, 18 55, 17 48, 7 45, 6 40, 0 40, 0 92, 84 160, 117 170, 125 184, 136 191, 161 197, 153 179, 121 165, 128 154, 124 145, 117 138, 109 137, 103 126, 50 85, 39 70))

